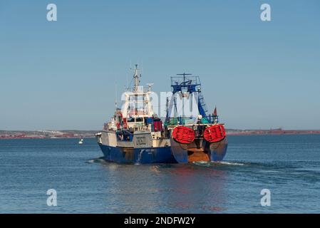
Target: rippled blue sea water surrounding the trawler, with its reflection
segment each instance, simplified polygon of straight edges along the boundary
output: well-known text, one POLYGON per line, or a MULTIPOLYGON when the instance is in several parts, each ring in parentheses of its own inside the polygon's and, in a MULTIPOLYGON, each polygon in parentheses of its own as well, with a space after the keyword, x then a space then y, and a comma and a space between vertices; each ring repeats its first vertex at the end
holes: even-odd
POLYGON ((222 163, 118 165, 101 156, 94 138, 0 140, 0 212, 320 213, 320 135, 229 136, 222 163), (46 204, 49 189, 56 207, 46 204))

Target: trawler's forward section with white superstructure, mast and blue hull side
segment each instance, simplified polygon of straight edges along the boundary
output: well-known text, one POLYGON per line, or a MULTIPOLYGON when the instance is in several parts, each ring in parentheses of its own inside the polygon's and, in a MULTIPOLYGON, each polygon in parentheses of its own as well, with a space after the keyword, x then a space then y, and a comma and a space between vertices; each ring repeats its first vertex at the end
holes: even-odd
POLYGON ((119 163, 173 163, 170 138, 165 137, 162 120, 153 112, 148 90, 140 86, 138 65, 135 65, 133 90, 124 93, 123 108, 105 123, 96 134, 105 160, 119 163))

